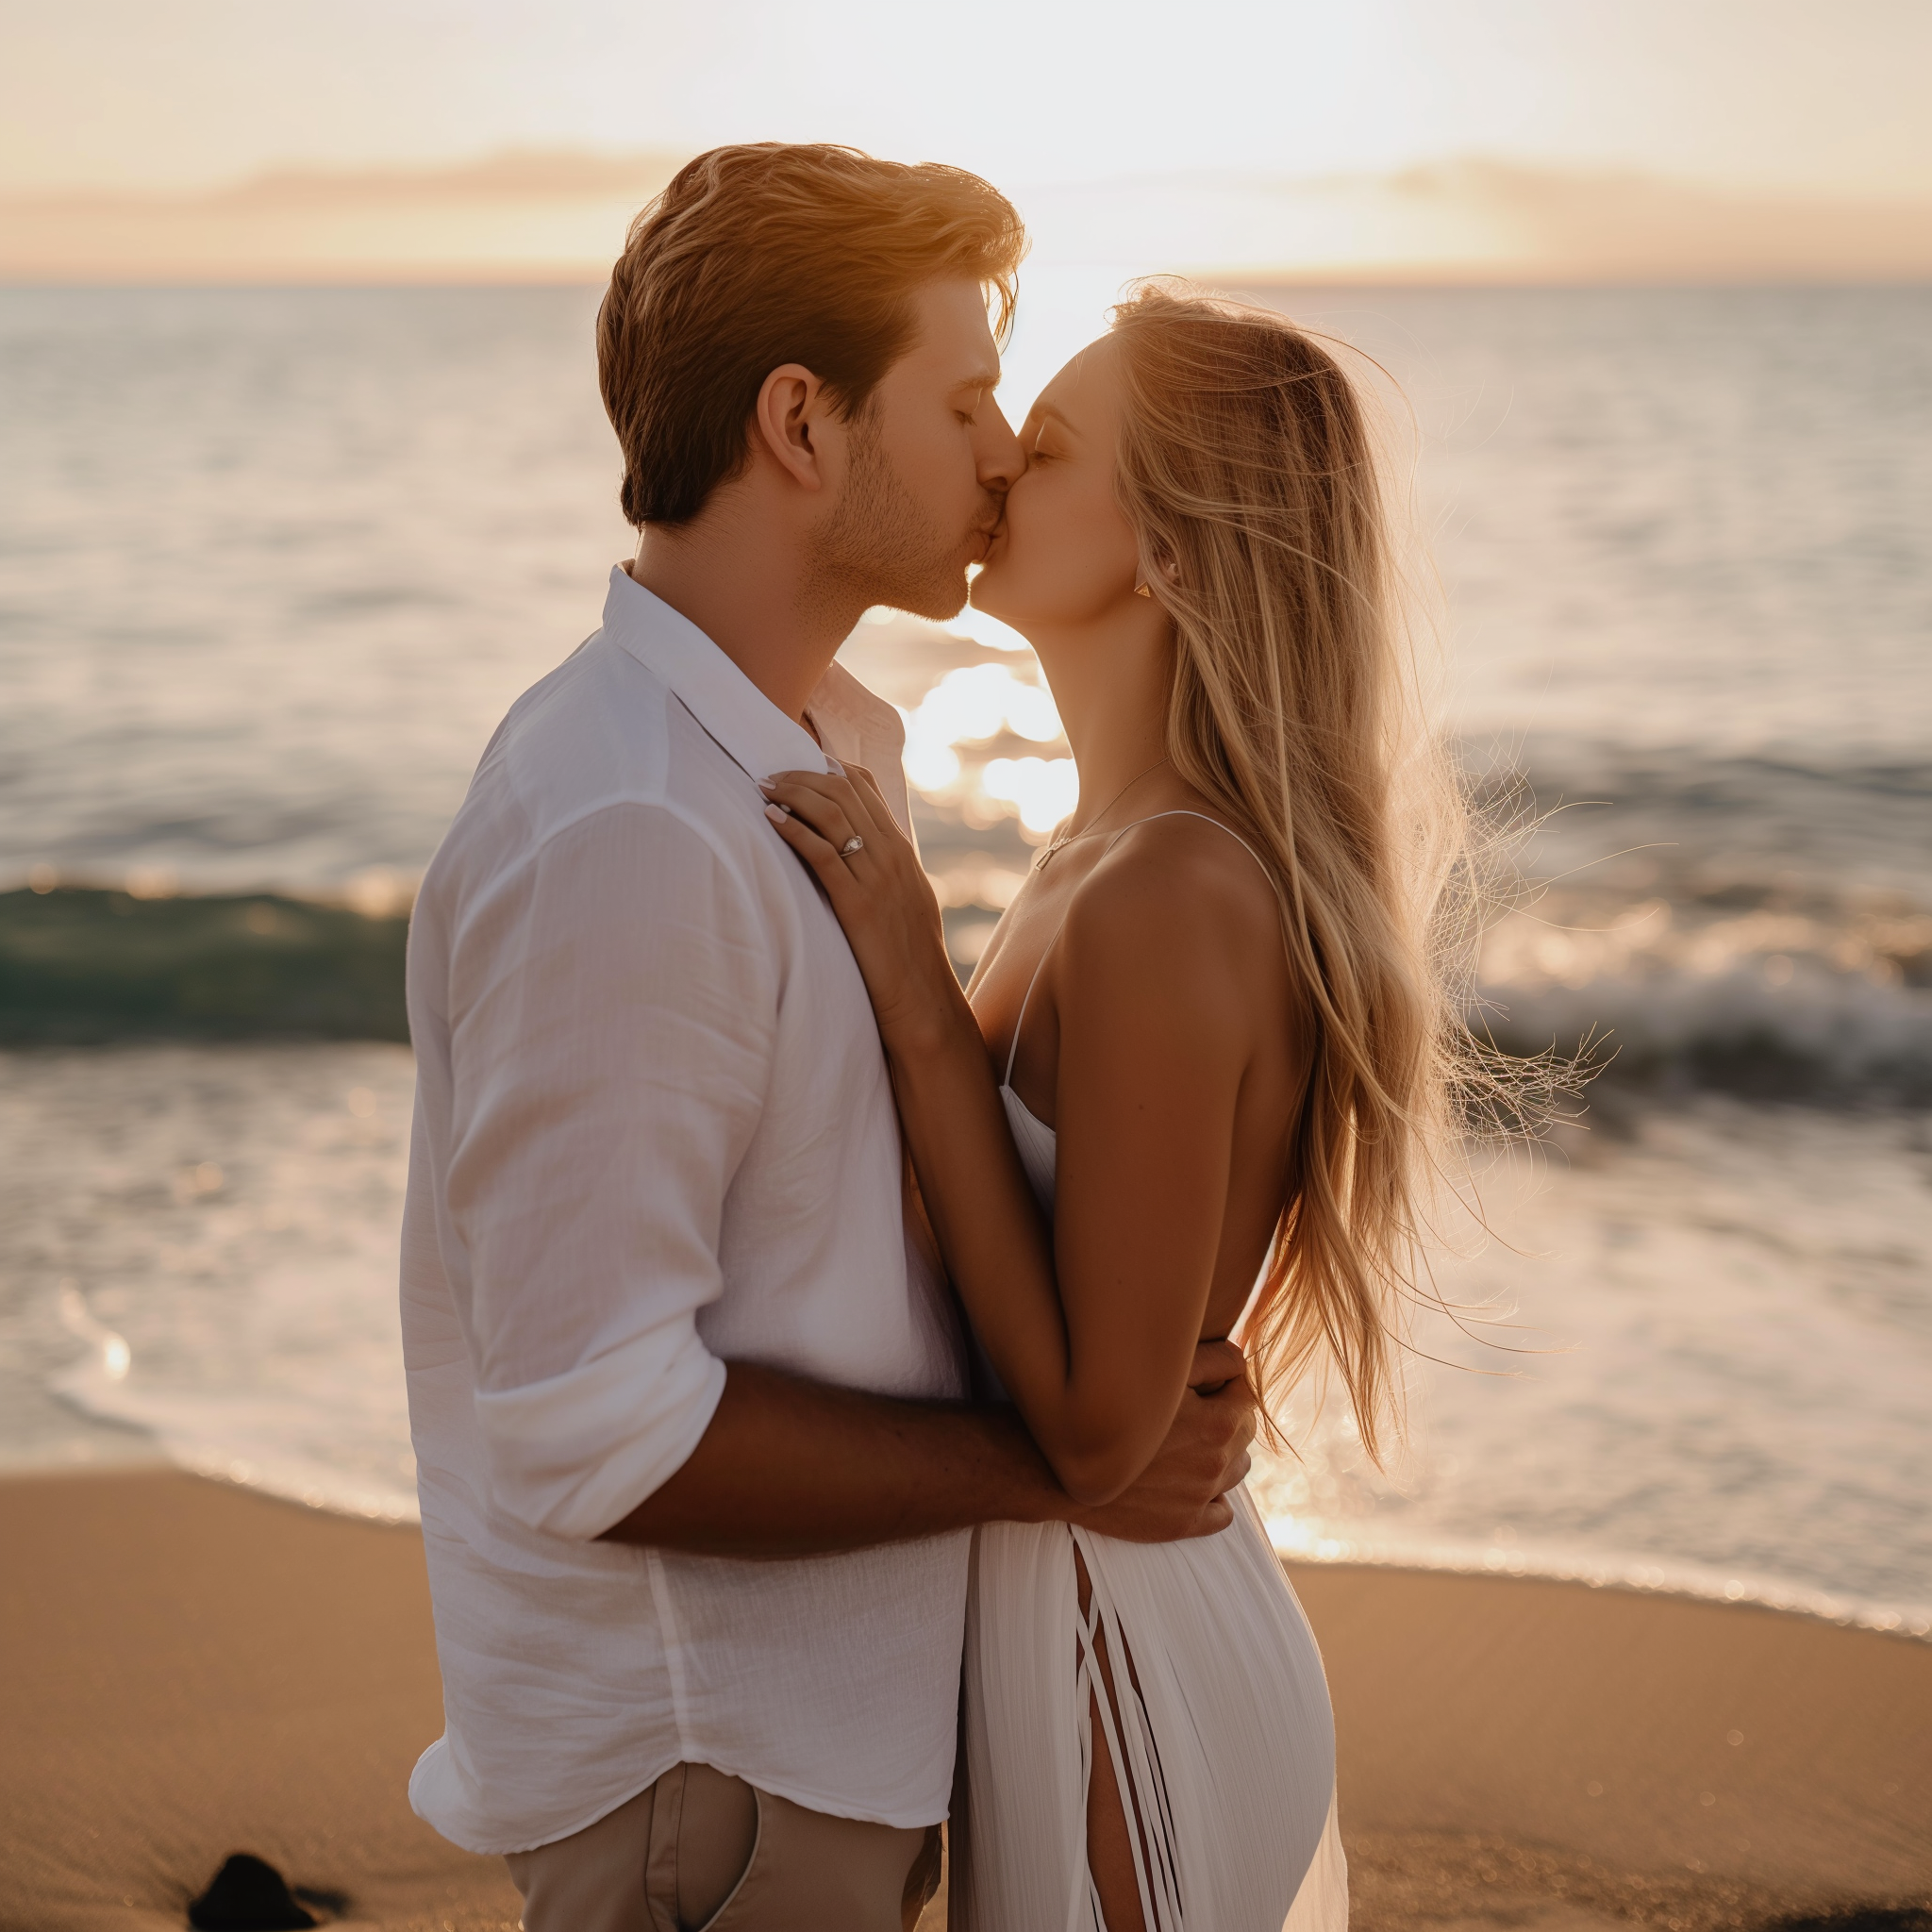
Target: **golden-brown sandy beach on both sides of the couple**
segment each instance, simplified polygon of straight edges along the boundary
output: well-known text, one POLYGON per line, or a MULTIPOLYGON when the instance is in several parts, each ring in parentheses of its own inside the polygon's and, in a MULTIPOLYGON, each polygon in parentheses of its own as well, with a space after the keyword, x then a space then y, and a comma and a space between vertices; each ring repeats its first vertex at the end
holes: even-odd
MULTIPOLYGON (((404 1795, 440 1708, 413 1530, 139 1470, 0 1482, 0 1548, 4 1932, 180 1926, 232 1851, 325 1920, 516 1924, 500 1864, 404 1795)), ((1932 1905, 1932 1646, 1575 1584, 1294 1582, 1358 1928, 1932 1905)))

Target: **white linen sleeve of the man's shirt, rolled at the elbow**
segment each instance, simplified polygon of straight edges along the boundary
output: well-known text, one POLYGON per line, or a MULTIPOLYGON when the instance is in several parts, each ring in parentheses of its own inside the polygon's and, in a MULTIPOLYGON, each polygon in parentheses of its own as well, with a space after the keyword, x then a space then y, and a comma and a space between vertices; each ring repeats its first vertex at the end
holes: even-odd
POLYGON ((450 945, 450 1231, 491 1501, 593 1538, 724 1393, 696 1316, 771 1068, 752 895, 665 806, 553 835, 450 945))

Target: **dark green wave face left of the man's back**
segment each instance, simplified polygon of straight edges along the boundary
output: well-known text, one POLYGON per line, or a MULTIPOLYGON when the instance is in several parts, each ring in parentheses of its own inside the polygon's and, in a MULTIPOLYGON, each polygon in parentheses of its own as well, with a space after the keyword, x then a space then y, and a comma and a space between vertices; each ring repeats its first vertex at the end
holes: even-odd
POLYGON ((0 893, 0 1041, 408 1039, 408 929, 272 893, 0 893))

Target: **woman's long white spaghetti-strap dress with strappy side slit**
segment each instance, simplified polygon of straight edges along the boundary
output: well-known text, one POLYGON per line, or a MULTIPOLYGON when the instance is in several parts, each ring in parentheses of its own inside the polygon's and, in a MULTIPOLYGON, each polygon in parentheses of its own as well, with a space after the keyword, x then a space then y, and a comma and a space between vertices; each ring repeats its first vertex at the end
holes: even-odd
MULTIPOLYGON (((1206 817, 1153 813, 1177 815, 1206 817)), ((1055 1132, 1012 1092, 1010 1053, 1001 1099, 1051 1217, 1055 1132)), ((983 1358, 981 1370, 991 1372, 983 1358)), ((1321 1656, 1246 1488, 1229 1501, 1225 1530, 1182 1544, 1122 1544, 1066 1524, 976 1530, 952 1932, 1107 1932, 1086 1862, 1095 1698, 1140 1824, 1128 1835, 1148 1932, 1347 1926, 1321 1656)))

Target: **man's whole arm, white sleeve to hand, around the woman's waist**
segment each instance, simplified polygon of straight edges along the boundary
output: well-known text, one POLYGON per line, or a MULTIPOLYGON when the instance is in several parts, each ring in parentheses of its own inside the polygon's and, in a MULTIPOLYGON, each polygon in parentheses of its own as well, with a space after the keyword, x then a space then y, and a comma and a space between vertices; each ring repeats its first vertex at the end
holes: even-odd
MULTIPOLYGON (((1244 1387, 1182 1397, 1148 1478, 1078 1513, 1009 1414, 703 1347, 724 1192, 763 1109, 759 918, 692 827, 624 806, 574 821, 460 922, 442 1184, 495 1507, 551 1536, 738 1555, 999 1519, 1146 1540, 1225 1524, 1244 1387)), ((1235 1352, 1198 1379, 1231 1376, 1235 1352)))

